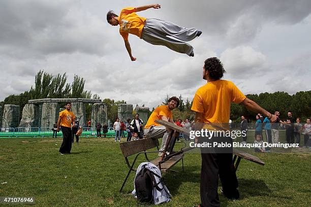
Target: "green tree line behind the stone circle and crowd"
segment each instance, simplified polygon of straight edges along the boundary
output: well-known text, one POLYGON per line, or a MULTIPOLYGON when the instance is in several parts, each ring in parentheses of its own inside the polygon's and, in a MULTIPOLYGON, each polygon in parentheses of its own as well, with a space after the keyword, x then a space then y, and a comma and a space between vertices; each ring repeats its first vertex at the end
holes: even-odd
MULTIPOLYGON (((30 87, 29 90, 24 91, 19 95, 9 95, 0 102, 0 106, 6 104, 19 105, 21 109, 26 105, 29 99, 40 98, 97 98, 100 99, 98 94, 92 95, 91 91, 84 90, 85 80, 78 75, 74 75, 72 83, 67 82, 68 76, 66 73, 63 75, 52 75, 44 71, 39 71, 35 77, 34 87, 30 87)), ((287 112, 291 111, 293 117, 300 117, 304 121, 305 118, 311 116, 311 90, 300 91, 293 95, 286 92, 274 92, 274 93, 260 93, 260 94, 247 94, 247 98, 250 98, 257 102, 261 107, 267 111, 274 113, 279 111, 281 113, 280 118, 285 119, 287 112)), ((168 94, 164 97, 162 105, 167 105, 169 100, 168 94)), ((182 95, 179 95, 179 106, 173 110, 174 120, 177 119, 190 119, 195 118, 195 113, 191 110, 192 100, 189 98, 184 99, 182 95)), ((103 103, 107 105, 108 119, 114 121, 118 113, 118 104, 126 103, 125 100, 114 100, 110 98, 103 99, 103 103)), ((149 111, 149 116, 153 112, 154 108, 149 111)), ((91 117, 91 105, 85 103, 86 119, 90 120, 91 117)), ((135 113, 133 111, 133 113, 135 113)), ((230 119, 235 122, 240 121, 241 115, 244 115, 246 119, 252 121, 256 120, 256 114, 246 110, 241 105, 231 103, 230 119)), ((21 113, 20 113, 21 119, 21 113)))

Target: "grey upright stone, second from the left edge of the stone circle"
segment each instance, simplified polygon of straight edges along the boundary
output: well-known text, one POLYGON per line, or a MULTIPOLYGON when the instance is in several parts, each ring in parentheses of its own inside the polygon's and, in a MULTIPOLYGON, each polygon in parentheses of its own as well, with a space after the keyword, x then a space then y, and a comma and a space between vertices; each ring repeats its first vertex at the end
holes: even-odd
POLYGON ((23 108, 22 119, 19 127, 38 127, 39 124, 39 106, 26 104, 23 108))

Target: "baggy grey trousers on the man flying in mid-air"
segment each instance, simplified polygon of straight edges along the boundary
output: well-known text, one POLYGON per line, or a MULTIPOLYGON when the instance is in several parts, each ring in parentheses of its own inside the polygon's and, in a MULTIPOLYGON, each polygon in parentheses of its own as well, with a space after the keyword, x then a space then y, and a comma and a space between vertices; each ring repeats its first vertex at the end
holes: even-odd
POLYGON ((197 37, 198 29, 185 28, 159 19, 146 19, 141 39, 152 45, 163 45, 179 53, 190 55, 193 47, 181 41, 191 41, 197 37), (178 40, 171 39, 174 37, 178 40))

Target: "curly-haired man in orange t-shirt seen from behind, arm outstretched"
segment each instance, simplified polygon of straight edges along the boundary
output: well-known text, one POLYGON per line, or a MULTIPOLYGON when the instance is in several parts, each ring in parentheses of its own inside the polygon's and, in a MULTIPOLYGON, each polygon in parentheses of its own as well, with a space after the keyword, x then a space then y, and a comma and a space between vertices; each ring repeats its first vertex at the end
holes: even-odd
MULTIPOLYGON (((241 103, 246 109, 268 117, 271 122, 276 120, 274 115, 246 98, 234 83, 221 80, 225 72, 223 64, 218 58, 211 57, 204 61, 203 79, 207 80, 207 84, 197 90, 191 108, 196 112, 195 130, 217 128, 217 130, 229 131, 231 102, 241 103)), ((224 133, 208 137, 208 140, 211 140, 212 143, 226 142, 232 146, 231 137, 222 134, 224 133)), ((196 143, 208 141, 206 138, 196 137, 196 143)), ((222 182, 221 192, 229 199, 239 198, 238 181, 232 164, 232 147, 201 148, 201 157, 200 194, 202 204, 200 206, 220 206, 217 193, 219 178, 222 182)))

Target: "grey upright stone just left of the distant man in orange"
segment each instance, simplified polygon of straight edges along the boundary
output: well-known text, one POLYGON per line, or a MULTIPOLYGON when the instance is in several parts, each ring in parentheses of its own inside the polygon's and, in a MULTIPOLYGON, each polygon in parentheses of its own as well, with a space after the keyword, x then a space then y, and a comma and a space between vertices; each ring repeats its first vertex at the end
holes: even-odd
POLYGON ((55 102, 43 103, 41 128, 52 128, 53 124, 58 120, 59 104, 55 102))

